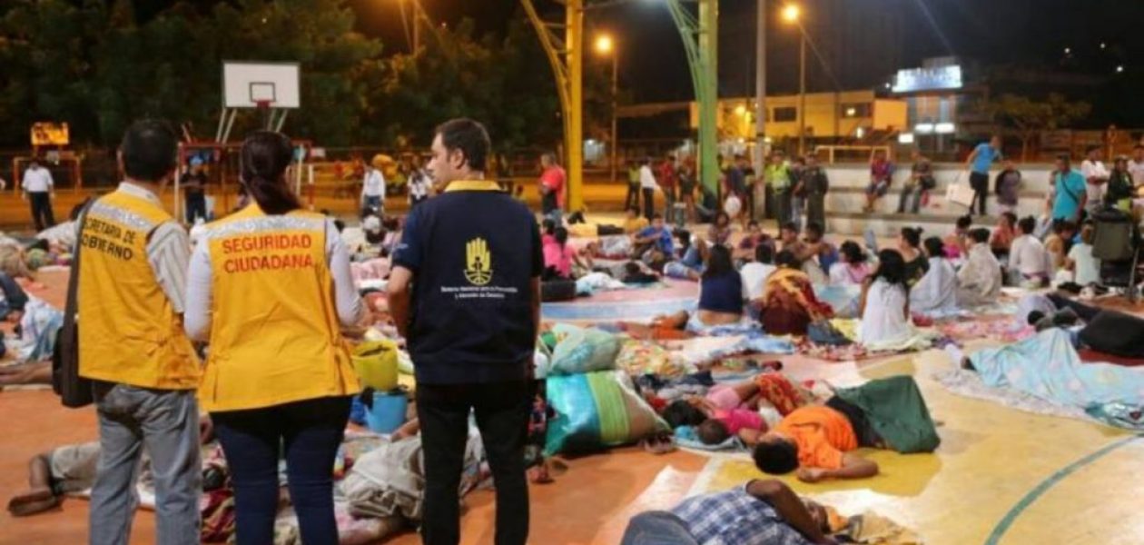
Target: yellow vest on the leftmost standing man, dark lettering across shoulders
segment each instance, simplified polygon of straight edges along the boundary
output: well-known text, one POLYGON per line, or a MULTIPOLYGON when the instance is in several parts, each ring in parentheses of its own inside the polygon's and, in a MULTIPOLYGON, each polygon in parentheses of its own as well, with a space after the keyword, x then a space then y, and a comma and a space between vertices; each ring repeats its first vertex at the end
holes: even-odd
POLYGON ((79 373, 143 388, 194 389, 199 361, 156 279, 148 238, 172 221, 159 205, 124 191, 98 199, 79 244, 79 373))

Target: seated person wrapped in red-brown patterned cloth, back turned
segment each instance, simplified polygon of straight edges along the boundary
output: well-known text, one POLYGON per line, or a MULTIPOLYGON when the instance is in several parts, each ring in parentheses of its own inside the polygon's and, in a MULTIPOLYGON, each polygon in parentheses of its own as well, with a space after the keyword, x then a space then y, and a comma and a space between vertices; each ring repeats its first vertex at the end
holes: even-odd
POLYGON ((834 315, 831 306, 815 295, 815 286, 793 252, 779 252, 774 264, 778 270, 766 278, 762 299, 752 302, 760 309, 763 330, 774 335, 804 335, 811 322, 834 315))

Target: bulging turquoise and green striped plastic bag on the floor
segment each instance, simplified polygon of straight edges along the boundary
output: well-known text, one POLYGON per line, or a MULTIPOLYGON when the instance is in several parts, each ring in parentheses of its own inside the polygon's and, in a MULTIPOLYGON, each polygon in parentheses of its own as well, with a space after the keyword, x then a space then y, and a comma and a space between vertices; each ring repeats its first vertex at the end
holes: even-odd
POLYGON ((545 455, 591 452, 668 432, 667 422, 636 394, 623 371, 548 377, 545 455))

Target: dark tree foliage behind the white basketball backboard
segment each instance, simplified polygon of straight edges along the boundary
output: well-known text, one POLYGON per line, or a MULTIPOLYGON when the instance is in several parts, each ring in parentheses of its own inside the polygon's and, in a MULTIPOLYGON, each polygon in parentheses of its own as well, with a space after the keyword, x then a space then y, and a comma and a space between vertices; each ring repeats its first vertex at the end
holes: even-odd
MULTIPOLYGON (((145 22, 130 0, 15 3, 0 17, 0 144, 26 145, 29 126, 50 120, 67 123, 74 143, 114 145, 144 117, 210 140, 223 60, 299 62, 302 108, 285 131, 319 145, 426 145, 458 116, 484 121, 502 148, 559 141, 553 74, 522 14, 503 38, 470 22, 435 26, 415 55, 382 56, 353 26, 340 0, 183 0, 145 22)), ((607 123, 606 78, 586 71, 589 126, 607 123)), ((232 134, 257 123, 239 116, 232 134)))

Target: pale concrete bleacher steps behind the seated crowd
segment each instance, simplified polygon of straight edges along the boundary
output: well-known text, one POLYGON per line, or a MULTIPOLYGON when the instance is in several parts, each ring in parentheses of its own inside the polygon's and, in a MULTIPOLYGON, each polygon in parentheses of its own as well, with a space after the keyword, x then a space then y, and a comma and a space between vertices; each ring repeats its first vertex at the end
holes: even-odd
MULTIPOLYGON (((1048 195, 1050 169, 1041 166, 1018 168, 1022 171, 1024 183, 1015 212, 1019 216, 1040 215, 1048 195)), ((934 165, 937 187, 930 191, 929 204, 923 205, 917 214, 897 213, 898 196, 909 179, 908 165, 898 167, 890 191, 879 199, 871 213, 863 211, 866 205, 866 187, 869 184, 868 165, 833 165, 826 171, 831 179, 831 191, 826 197, 826 228, 829 232, 860 235, 869 228, 880 237, 889 237, 897 235, 903 227, 921 227, 927 234, 942 236, 952 231, 954 221, 968 212, 966 206, 947 202, 945 198, 950 184, 969 183, 964 166, 960 164, 934 165)), ((975 226, 992 227, 1001 213, 996 196, 992 193, 993 179, 996 174, 998 171, 990 173, 987 218, 975 216, 975 226)))

